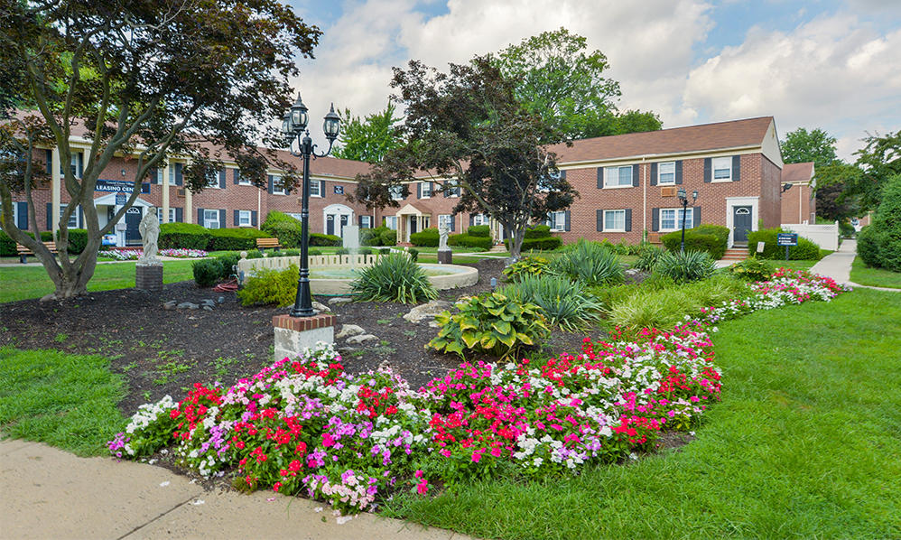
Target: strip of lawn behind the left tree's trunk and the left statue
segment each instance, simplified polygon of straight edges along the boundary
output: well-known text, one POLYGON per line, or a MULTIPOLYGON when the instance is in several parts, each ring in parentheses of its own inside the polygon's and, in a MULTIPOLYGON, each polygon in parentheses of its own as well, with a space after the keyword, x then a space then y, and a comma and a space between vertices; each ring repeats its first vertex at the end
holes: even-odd
MULTIPOLYGON (((163 264, 163 283, 193 279, 192 261, 166 261, 163 264)), ((88 282, 88 291, 109 291, 135 286, 135 262, 97 265, 88 282)), ((41 298, 54 291, 53 282, 43 266, 0 267, 0 303, 28 298, 41 298)))

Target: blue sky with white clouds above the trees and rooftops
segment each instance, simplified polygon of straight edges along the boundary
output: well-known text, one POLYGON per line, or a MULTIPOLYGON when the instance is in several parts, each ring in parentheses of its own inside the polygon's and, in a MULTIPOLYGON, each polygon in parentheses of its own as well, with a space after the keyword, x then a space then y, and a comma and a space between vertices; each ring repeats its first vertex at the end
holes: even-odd
MULTIPOLYGON (((300 61, 311 117, 385 107, 393 66, 445 67, 560 27, 604 52, 621 109, 664 127, 775 116, 839 139, 901 129, 901 0, 291 0, 323 31, 300 61)), ((314 135, 315 136, 315 135, 314 135)))

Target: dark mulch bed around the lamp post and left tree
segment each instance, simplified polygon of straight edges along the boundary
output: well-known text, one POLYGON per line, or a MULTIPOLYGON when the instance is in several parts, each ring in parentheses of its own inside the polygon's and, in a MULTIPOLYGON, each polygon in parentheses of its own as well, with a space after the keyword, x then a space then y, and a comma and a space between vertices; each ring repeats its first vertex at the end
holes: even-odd
MULTIPOLYGON (((473 266, 479 271, 478 284, 443 291, 441 299, 453 302, 486 291, 492 277, 502 281, 503 260, 485 259, 473 266)), ((315 300, 328 302, 328 298, 315 300)), ((344 365, 350 373, 374 369, 386 361, 418 388, 460 364, 456 356, 425 349, 437 330, 424 322, 405 321, 402 317, 410 305, 347 303, 330 307, 338 316, 336 330, 341 324, 357 324, 379 338, 344 352, 344 365)), ((25 300, 0 308, 0 345, 111 358, 113 370, 127 381, 119 407, 130 415, 138 405, 166 394, 180 400, 194 382, 218 380, 230 386, 271 364, 272 318, 284 312, 285 308, 245 308, 235 293, 215 293, 193 282, 167 284, 161 294, 122 289, 66 301, 25 300), (223 302, 213 311, 163 309, 163 303, 170 300, 200 303, 219 297, 223 302)), ((576 352, 584 338, 584 333, 554 331, 543 349, 533 355, 576 352)))

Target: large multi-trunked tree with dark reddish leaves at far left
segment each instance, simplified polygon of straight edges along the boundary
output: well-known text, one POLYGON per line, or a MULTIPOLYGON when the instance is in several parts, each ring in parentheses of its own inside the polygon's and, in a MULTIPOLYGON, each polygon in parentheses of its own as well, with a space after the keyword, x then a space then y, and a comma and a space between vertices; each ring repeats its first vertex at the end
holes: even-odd
MULTIPOLYGON (((221 167, 221 147, 242 175, 265 185, 265 171, 288 171, 257 141, 283 146, 269 126, 290 105, 289 77, 298 75, 295 53, 311 56, 320 31, 274 0, 229 2, 124 2, 0 0, 0 227, 38 256, 56 286, 55 296, 86 293, 101 238, 134 205, 134 190, 107 225, 93 204, 99 174, 116 155, 135 156, 135 185, 172 155, 190 158, 185 184, 200 191, 221 167), (6 86, 6 85, 9 86, 6 86), (18 109, 18 113, 15 113, 18 109), (63 167, 71 203, 60 218, 59 261, 12 219, 13 192, 23 192, 37 236, 31 188, 32 156, 42 139, 70 163, 70 135, 83 132, 90 148, 82 176, 63 167), (10 162, 23 163, 11 167, 10 162), (80 206, 88 243, 74 260, 67 254, 69 222, 80 206)), ((46 146, 43 146, 46 147, 46 146)))

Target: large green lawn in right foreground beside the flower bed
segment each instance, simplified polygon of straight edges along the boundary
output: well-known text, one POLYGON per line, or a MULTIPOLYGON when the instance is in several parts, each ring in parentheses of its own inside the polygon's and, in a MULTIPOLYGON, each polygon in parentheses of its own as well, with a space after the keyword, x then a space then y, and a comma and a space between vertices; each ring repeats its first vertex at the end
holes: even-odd
POLYGON ((388 512, 490 538, 901 537, 899 300, 858 290, 722 324, 722 402, 678 452, 388 512))

